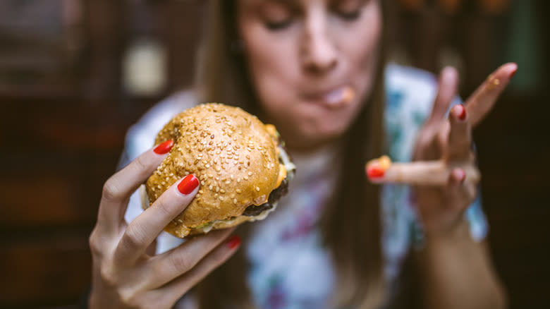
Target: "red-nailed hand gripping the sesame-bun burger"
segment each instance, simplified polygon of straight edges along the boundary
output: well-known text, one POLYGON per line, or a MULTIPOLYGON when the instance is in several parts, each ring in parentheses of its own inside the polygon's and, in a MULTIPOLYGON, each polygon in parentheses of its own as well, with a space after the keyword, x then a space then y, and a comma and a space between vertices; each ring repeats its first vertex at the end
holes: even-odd
POLYGON ((90 236, 90 308, 171 308, 238 247, 240 238, 228 238, 233 229, 226 229, 190 238, 166 253, 148 254, 164 226, 195 197, 199 181, 193 175, 177 181, 126 224, 130 195, 157 169, 172 145, 168 141, 148 150, 106 181, 90 236))

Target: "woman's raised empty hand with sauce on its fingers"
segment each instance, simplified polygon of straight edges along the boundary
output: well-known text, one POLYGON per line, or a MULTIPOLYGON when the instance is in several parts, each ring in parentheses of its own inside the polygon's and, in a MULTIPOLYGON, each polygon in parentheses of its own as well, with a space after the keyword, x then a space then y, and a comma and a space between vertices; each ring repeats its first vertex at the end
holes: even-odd
POLYGON ((472 151, 472 128, 494 107, 517 70, 515 63, 498 68, 468 98, 447 111, 456 97, 458 74, 444 68, 432 113, 420 131, 412 163, 391 164, 381 169, 379 160, 367 164, 374 183, 408 183, 415 196, 427 236, 452 233, 463 212, 475 200, 479 171, 472 151))

